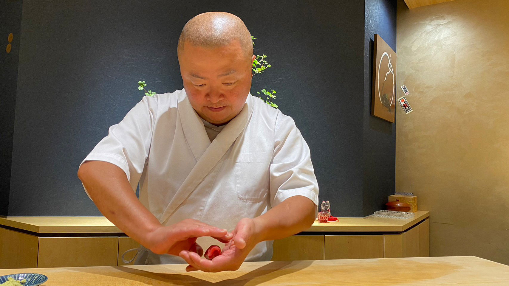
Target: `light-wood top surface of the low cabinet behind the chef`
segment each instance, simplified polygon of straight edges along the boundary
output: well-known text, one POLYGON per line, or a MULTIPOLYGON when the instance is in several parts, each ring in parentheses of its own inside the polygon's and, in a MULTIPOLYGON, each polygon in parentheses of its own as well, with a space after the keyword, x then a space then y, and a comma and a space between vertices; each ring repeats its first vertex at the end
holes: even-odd
MULTIPOLYGON (((305 232, 404 232, 430 216, 417 211, 412 219, 390 219, 375 216, 365 218, 340 217, 339 221, 315 221, 305 232)), ((11 216, 0 217, 0 225, 39 234, 47 233, 122 233, 103 216, 11 216)))

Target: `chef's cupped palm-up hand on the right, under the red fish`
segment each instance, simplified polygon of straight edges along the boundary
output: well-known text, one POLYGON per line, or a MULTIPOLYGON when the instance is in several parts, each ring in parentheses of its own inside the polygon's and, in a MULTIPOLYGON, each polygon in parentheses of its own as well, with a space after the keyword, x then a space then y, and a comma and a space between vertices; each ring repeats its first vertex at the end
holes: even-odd
POLYGON ((239 269, 247 254, 261 240, 256 222, 250 218, 241 219, 232 234, 232 240, 224 245, 221 255, 212 260, 201 258, 201 255, 195 252, 182 250, 179 256, 189 264, 186 271, 219 272, 239 269))

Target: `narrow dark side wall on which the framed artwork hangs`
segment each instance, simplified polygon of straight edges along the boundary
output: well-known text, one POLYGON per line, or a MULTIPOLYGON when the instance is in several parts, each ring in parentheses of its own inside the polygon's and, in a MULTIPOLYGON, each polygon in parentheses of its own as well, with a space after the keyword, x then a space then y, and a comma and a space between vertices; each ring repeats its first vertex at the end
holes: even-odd
POLYGON ((365 7, 362 216, 385 209, 387 196, 394 194, 396 171, 396 125, 371 116, 374 35, 397 51, 396 1, 365 0, 365 7))

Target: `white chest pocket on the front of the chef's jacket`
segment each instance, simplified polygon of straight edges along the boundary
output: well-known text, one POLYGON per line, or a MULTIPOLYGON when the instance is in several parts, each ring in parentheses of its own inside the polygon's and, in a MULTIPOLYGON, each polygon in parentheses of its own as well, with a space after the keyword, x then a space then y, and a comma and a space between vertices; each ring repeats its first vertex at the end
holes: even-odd
POLYGON ((272 152, 241 153, 235 161, 237 196, 244 202, 262 202, 269 195, 272 152))

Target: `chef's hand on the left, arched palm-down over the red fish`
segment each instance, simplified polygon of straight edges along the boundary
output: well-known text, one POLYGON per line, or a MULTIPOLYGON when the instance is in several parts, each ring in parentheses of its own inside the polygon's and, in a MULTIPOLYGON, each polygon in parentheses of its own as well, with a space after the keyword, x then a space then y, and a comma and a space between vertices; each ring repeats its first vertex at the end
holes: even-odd
POLYGON ((156 254, 179 255, 183 250, 202 256, 203 248, 196 238, 210 236, 222 243, 228 243, 233 235, 227 230, 208 225, 195 219, 185 219, 178 223, 157 227, 147 235, 145 247, 156 254))

